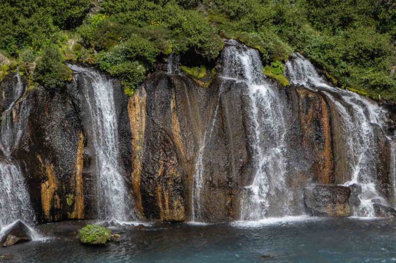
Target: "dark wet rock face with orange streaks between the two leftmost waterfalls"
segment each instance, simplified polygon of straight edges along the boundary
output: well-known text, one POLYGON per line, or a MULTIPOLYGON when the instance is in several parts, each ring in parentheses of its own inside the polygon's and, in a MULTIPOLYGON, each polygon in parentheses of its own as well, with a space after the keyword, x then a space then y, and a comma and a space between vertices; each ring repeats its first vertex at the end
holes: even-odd
POLYGON ((41 87, 24 100, 32 110, 16 158, 38 222, 84 218, 84 131, 76 101, 41 87))

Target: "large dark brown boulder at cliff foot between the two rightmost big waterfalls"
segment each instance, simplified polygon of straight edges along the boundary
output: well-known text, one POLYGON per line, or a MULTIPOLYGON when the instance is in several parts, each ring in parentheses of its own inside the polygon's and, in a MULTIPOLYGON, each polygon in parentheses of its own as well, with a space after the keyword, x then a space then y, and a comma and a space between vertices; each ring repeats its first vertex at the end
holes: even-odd
POLYGON ((304 188, 304 206, 314 216, 350 216, 350 188, 341 185, 310 185, 304 188))

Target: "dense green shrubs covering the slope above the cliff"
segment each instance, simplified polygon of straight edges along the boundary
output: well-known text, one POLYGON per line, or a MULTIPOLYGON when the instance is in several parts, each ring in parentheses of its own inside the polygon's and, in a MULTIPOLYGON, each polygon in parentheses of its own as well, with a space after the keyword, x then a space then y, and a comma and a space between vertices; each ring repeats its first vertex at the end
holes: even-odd
POLYGON ((73 60, 132 94, 169 53, 213 60, 233 38, 284 85, 280 62, 299 51, 340 87, 396 102, 393 0, 2 0, 0 9, 0 77, 19 66, 32 86, 61 88, 73 60))

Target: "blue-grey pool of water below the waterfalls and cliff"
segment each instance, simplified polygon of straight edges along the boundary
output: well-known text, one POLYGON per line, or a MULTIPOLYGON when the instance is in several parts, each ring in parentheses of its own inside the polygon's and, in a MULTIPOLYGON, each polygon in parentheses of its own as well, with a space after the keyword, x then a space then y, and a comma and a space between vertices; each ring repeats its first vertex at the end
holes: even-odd
POLYGON ((151 224, 121 232, 120 243, 81 245, 87 221, 51 223, 51 236, 1 248, 15 262, 395 262, 396 223, 384 219, 289 218, 212 225, 151 224))

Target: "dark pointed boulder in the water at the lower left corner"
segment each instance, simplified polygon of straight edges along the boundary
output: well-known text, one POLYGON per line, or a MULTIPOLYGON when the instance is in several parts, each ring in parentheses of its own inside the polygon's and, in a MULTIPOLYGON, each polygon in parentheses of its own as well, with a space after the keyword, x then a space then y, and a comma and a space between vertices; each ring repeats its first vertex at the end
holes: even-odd
POLYGON ((7 229, 0 239, 3 247, 9 247, 15 244, 31 241, 31 232, 22 221, 16 221, 9 229, 7 229))

